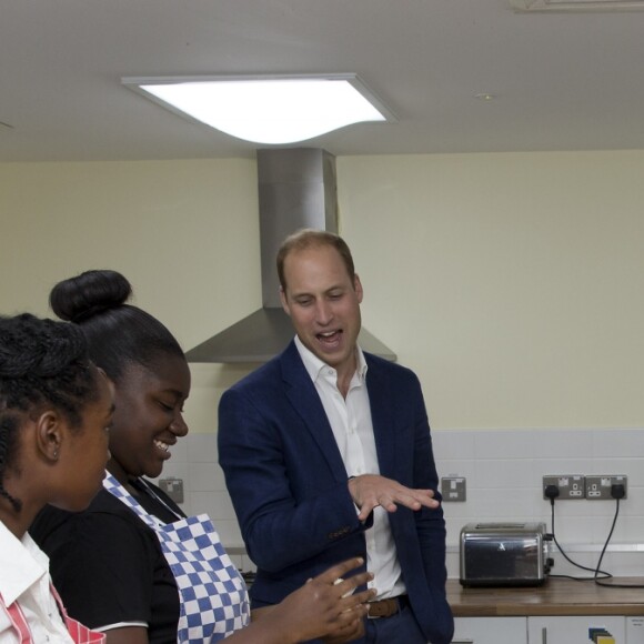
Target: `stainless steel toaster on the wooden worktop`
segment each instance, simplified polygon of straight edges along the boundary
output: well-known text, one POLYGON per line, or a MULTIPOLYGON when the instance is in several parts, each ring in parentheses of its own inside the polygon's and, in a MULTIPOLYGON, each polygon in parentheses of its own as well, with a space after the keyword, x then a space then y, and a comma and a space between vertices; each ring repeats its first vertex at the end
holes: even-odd
POLYGON ((463 586, 537 586, 553 565, 545 523, 469 523, 461 530, 463 586))

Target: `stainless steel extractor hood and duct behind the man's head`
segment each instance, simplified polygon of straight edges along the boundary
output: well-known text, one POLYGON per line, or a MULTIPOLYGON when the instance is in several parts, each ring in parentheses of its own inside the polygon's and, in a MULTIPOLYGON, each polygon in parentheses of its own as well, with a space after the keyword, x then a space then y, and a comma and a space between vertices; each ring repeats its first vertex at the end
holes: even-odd
MULTIPOLYGON (((280 301, 275 268, 284 238, 301 228, 338 232, 335 157, 318 148, 258 150, 262 308, 187 352, 189 362, 266 362, 295 332, 280 301)), ((364 328, 362 349, 395 353, 364 328)))

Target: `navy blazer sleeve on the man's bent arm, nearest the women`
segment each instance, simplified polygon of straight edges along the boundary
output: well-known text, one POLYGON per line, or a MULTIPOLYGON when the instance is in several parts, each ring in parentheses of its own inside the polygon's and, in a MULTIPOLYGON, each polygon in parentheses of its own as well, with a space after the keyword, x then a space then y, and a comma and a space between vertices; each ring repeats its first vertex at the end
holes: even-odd
POLYGON ((372 524, 358 521, 346 477, 321 467, 312 441, 298 442, 301 422, 285 406, 258 402, 243 388, 228 390, 219 404, 219 462, 249 555, 269 572, 319 557, 372 524))

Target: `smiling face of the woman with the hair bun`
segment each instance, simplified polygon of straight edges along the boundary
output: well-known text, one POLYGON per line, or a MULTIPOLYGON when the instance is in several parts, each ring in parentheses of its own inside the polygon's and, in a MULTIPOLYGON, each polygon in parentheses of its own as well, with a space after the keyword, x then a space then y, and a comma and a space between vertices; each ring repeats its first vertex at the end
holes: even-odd
POLYGON ((177 439, 188 433, 183 403, 190 393, 185 359, 162 353, 153 366, 132 364, 115 383, 115 411, 110 431, 112 460, 108 465, 117 479, 159 476, 177 439))

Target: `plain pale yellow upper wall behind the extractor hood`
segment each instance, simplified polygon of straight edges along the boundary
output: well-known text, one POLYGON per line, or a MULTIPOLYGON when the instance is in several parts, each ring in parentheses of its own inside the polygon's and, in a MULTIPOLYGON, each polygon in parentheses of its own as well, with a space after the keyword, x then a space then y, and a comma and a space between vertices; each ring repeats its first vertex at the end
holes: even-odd
MULTIPOLYGON (((365 326, 436 429, 644 417, 644 151, 338 159, 365 326)), ((245 160, 0 164, 0 310, 113 268, 187 348, 261 303, 245 160)), ((197 432, 249 366, 193 365, 197 432)))

